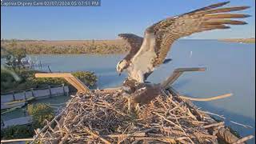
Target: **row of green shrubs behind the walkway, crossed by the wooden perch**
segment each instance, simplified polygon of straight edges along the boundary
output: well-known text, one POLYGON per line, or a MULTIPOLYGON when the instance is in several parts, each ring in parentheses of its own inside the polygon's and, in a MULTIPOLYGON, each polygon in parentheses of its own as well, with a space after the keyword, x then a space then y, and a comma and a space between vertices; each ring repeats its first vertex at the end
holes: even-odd
MULTIPOLYGON (((63 78, 35 78, 34 74, 39 72, 37 70, 12 69, 12 71, 17 74, 21 80, 15 80, 14 76, 10 74, 10 70, 1 69, 1 93, 6 93, 11 90, 27 90, 31 87, 45 88, 46 86, 56 86, 62 83, 66 86, 70 86, 70 91, 75 90, 74 87, 63 78)), ((94 86, 97 82, 97 76, 93 72, 78 71, 72 74, 89 87, 94 86)))

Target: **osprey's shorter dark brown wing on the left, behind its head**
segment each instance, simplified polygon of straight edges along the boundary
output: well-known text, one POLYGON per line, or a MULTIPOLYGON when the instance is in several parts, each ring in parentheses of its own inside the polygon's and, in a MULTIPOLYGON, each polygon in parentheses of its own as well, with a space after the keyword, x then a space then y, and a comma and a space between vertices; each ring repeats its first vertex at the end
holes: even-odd
POLYGON ((130 61, 142 46, 143 38, 135 34, 118 34, 118 36, 126 40, 130 46, 130 51, 125 58, 127 61, 130 61))

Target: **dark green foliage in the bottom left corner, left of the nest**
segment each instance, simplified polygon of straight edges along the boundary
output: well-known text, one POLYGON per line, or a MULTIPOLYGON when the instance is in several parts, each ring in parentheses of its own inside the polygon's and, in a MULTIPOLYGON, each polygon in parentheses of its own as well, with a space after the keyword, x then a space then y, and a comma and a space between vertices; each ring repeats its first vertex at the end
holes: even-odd
POLYGON ((1 139, 32 138, 34 129, 31 126, 8 126, 1 129, 1 139))

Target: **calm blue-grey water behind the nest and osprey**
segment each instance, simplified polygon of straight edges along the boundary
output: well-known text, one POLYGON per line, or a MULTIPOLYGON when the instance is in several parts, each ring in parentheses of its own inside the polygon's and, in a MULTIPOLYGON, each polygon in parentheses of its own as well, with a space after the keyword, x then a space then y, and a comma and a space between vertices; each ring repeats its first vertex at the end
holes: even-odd
MULTIPOLYGON (((42 62, 42 70, 71 72, 90 70, 98 75, 98 87, 120 86, 126 74, 120 77, 115 66, 124 55, 30 55, 42 62)), ((213 102, 194 102, 202 110, 226 117, 226 124, 242 136, 255 135, 255 44, 217 42, 214 40, 180 40, 175 42, 168 55, 173 61, 158 67, 148 79, 162 82, 179 67, 206 66, 205 72, 187 72, 174 83, 182 94, 206 98, 233 93, 230 98, 213 102), (246 129, 230 123, 253 126, 246 129)), ((255 140, 250 141, 254 143, 255 140)))

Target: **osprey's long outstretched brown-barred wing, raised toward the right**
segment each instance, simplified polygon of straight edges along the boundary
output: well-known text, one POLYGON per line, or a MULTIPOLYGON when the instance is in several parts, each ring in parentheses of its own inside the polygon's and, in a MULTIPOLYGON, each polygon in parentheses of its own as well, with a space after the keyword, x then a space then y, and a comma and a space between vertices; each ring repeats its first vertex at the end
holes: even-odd
POLYGON ((154 34, 154 50, 157 58, 154 59, 154 66, 159 66, 164 62, 166 54, 170 50, 171 44, 178 38, 190 34, 217 29, 229 29, 227 25, 243 25, 246 22, 231 20, 230 18, 246 18, 247 14, 231 14, 226 12, 245 10, 248 6, 218 8, 226 5, 222 2, 210 6, 193 10, 189 13, 178 15, 173 18, 166 18, 146 29, 147 34, 154 34), (216 9, 217 8, 217 9, 216 9))

